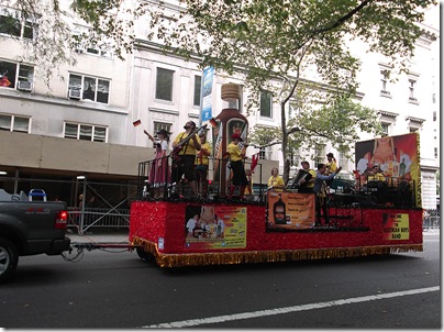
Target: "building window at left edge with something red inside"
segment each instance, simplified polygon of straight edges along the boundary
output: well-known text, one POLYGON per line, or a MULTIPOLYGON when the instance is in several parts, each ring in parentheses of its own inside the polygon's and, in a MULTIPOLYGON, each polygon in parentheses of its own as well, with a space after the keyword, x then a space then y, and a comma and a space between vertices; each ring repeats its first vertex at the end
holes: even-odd
POLYGON ((14 64, 9 62, 0 62, 0 87, 21 88, 24 82, 29 90, 34 81, 34 67, 14 64))

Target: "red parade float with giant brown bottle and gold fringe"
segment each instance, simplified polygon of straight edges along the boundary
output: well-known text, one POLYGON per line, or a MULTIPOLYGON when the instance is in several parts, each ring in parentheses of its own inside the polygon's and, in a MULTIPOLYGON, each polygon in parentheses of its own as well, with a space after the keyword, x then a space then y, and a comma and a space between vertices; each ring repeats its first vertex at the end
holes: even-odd
MULTIPOLYGON (((235 98, 235 89, 223 86, 222 98, 235 98)), ((181 189, 167 185, 164 198, 151 198, 152 161, 140 164, 140 195, 131 206, 129 241, 141 258, 179 267, 423 250, 418 134, 356 143, 356 182, 330 193, 330 224, 318 225, 314 193, 259 187, 251 198, 229 200, 230 168, 221 156, 233 133, 246 141, 248 123, 235 108, 223 109, 211 123, 213 158, 204 198, 178 192, 181 189), (368 181, 374 164, 380 166, 385 181, 368 181)))

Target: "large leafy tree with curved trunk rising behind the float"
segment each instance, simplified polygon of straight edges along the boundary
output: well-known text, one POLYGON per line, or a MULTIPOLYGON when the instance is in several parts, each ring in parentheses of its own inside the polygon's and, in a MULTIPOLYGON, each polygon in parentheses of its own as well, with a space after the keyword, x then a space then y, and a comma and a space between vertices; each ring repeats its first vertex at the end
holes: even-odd
MULTIPOLYGON (((26 12, 40 1, 16 2, 26 12)), ((62 12, 57 0, 49 3, 62 12)), ((359 131, 379 132, 375 111, 354 100, 359 62, 349 42, 365 42, 368 52, 390 59, 393 71, 403 71, 421 34, 417 23, 422 10, 436 1, 181 0, 178 13, 162 1, 157 7, 129 3, 74 0, 71 9, 92 26, 84 37, 112 40, 120 56, 137 42, 133 22, 149 15, 147 37, 160 40, 166 52, 198 56, 201 67, 212 65, 219 75, 243 76, 249 111, 258 110, 260 92, 273 92, 280 106, 280 131, 271 143, 281 145, 287 180, 288 146, 328 140, 348 152, 359 131), (175 24, 165 24, 168 20, 175 24)))

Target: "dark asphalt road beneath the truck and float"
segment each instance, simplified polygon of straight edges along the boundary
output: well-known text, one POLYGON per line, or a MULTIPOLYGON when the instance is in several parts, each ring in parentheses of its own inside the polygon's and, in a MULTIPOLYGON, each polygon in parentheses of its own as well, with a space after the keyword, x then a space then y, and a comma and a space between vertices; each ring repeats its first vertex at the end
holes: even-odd
POLYGON ((7 329, 440 329, 440 233, 424 252, 167 270, 125 250, 21 257, 7 329), (73 256, 73 255, 71 255, 73 256))

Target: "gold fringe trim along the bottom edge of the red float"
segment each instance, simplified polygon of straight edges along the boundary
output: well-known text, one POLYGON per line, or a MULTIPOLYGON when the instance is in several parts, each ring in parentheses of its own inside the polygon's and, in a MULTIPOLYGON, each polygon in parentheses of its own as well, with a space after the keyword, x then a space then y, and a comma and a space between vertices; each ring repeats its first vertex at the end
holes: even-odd
POLYGON ((132 244, 142 245, 147 253, 153 254, 156 258, 157 265, 160 267, 347 258, 347 257, 360 257, 370 255, 388 255, 410 251, 413 252, 423 251, 422 244, 402 244, 402 245, 379 245, 379 246, 314 248, 314 250, 163 254, 158 252, 157 244, 141 237, 134 237, 132 244))

